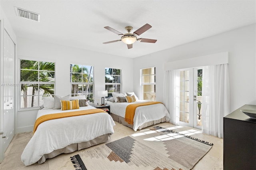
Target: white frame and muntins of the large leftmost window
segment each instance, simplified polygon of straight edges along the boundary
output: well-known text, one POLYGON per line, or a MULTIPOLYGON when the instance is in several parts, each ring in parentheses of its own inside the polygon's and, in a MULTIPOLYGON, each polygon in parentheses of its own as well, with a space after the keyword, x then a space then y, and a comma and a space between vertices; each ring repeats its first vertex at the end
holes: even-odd
MULTIPOLYGON (((18 99, 18 111, 24 111, 24 110, 34 110, 34 109, 39 109, 42 105, 40 105, 40 96, 44 97, 44 96, 51 96, 55 94, 55 87, 56 87, 56 62, 55 61, 49 61, 49 60, 42 60, 42 59, 37 59, 37 58, 19 58, 19 72, 18 72, 18 82, 19 84, 14 84, 14 86, 18 86, 18 93, 19 93, 19 99, 18 99), (36 61, 36 62, 47 62, 47 63, 54 63, 54 71, 49 71, 49 70, 40 70, 40 65, 38 64, 38 69, 22 69, 21 68, 21 60, 28 60, 28 61, 36 61), (21 70, 30 70, 30 71, 38 71, 38 80, 37 81, 21 81, 20 76, 21 76, 21 70), (48 71, 48 72, 53 72, 54 73, 54 81, 40 81, 40 75, 39 72, 40 71, 48 71), (41 85, 53 85, 54 88, 54 93, 53 94, 47 94, 47 95, 40 95, 40 93, 38 93, 37 95, 21 95, 22 90, 21 90, 21 85, 22 84, 28 84, 28 85, 33 85, 33 84, 37 84, 37 87, 39 88, 41 85), (27 96, 27 97, 31 97, 31 96, 37 96, 37 102, 38 102, 38 106, 37 107, 22 107, 22 97, 23 96, 27 96)), ((43 103, 43 102, 42 102, 43 103)))

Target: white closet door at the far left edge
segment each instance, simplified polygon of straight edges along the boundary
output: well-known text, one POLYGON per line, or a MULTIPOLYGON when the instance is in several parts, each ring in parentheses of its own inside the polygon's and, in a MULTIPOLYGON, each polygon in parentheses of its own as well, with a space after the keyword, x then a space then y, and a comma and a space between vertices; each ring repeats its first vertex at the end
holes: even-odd
POLYGON ((6 151, 13 136, 14 136, 14 125, 15 125, 15 44, 4 30, 4 59, 3 59, 3 112, 1 113, 1 131, 4 132, 1 137, 1 154, 6 151))

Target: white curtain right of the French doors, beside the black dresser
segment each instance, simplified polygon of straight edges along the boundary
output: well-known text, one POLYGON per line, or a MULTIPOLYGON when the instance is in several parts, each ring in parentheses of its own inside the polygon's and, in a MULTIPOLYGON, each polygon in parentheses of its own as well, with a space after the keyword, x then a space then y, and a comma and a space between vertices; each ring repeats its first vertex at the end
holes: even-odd
POLYGON ((228 64, 203 67, 202 132, 223 138, 223 117, 230 113, 228 64))

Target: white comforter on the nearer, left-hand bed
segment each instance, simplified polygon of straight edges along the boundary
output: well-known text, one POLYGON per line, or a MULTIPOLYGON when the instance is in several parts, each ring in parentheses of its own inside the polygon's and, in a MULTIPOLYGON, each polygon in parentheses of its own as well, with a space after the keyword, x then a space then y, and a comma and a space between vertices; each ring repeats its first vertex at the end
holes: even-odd
MULTIPOLYGON (((39 110, 37 117, 53 113, 95 109, 92 106, 61 111, 60 109, 39 110)), ((104 134, 113 134, 115 125, 112 117, 106 113, 94 113, 74 117, 49 120, 41 123, 27 146, 21 160, 28 166, 36 163, 44 154, 64 148, 70 144, 92 140, 104 134)))

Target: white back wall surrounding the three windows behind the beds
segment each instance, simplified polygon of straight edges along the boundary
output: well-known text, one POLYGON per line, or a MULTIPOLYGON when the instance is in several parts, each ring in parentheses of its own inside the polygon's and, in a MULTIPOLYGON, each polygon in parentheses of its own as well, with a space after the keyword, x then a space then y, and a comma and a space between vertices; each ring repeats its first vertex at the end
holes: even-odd
MULTIPOLYGON (((70 94, 69 74, 71 63, 94 66, 94 91, 105 90, 105 67, 122 69, 122 92, 133 91, 133 59, 131 58, 28 40, 20 37, 17 38, 17 41, 18 59, 27 57, 29 59, 43 59, 45 61, 56 62, 56 95, 65 96, 70 94)), ((18 59, 17 62, 19 61, 18 59)), ((17 83, 19 81, 18 75, 16 81, 17 83)), ((36 121, 37 111, 18 111, 17 133, 32 130, 36 121)))

